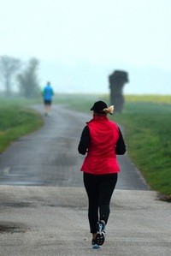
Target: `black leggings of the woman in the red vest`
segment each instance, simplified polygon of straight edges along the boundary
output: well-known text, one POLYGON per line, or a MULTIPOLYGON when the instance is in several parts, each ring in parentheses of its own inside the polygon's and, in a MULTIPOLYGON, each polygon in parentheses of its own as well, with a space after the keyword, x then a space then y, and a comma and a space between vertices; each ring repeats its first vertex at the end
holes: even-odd
POLYGON ((97 233, 97 222, 108 222, 109 203, 117 182, 117 173, 107 175, 91 175, 84 172, 85 190, 88 195, 88 218, 91 233, 97 233), (98 217, 99 211, 99 217, 98 217))

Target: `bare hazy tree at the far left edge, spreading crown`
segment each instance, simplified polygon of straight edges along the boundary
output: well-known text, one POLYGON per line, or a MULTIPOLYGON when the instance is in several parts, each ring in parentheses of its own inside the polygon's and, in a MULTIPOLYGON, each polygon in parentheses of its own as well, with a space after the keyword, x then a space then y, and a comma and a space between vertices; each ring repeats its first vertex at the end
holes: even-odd
POLYGON ((0 57, 0 76, 4 83, 6 96, 10 96, 12 79, 20 68, 20 59, 6 55, 0 57))

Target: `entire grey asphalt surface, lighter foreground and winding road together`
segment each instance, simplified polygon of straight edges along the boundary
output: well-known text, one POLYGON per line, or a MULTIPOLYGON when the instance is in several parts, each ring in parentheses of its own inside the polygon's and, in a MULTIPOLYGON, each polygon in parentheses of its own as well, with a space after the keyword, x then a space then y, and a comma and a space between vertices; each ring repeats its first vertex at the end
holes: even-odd
POLYGON ((119 157, 106 241, 91 249, 77 151, 90 119, 54 105, 43 128, 0 155, 0 256, 171 255, 170 204, 150 191, 127 154, 119 157))

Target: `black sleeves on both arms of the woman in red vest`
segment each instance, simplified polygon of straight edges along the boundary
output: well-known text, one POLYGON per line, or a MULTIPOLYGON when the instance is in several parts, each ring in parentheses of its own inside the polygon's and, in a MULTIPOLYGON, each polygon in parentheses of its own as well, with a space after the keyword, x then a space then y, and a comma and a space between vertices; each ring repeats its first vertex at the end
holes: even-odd
MULTIPOLYGON (((126 145, 123 140, 121 130, 120 128, 118 129, 119 129, 119 139, 117 140, 115 145, 115 153, 116 155, 123 155, 126 152, 126 145)), ((78 146, 78 151, 80 152, 81 155, 85 155, 89 144, 90 144, 90 131, 88 126, 86 125, 82 131, 82 134, 80 137, 80 144, 78 146)))

